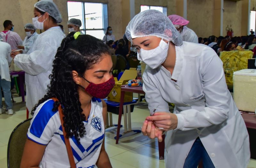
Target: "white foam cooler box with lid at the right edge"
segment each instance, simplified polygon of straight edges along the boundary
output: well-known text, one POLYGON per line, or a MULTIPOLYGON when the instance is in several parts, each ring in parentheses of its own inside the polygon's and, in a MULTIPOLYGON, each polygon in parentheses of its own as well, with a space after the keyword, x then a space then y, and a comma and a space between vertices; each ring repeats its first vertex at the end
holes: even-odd
POLYGON ((256 109, 256 69, 242 69, 233 74, 233 98, 241 111, 256 109))

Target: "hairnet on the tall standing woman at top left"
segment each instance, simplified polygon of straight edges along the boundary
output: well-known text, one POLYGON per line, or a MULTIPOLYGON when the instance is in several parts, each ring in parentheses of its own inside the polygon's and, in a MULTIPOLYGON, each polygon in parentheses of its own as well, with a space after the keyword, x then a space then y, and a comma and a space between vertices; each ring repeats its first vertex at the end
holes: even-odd
POLYGON ((57 23, 60 23, 62 21, 60 11, 52 0, 41 0, 37 2, 34 7, 36 7, 40 11, 49 13, 50 16, 56 19, 57 23))

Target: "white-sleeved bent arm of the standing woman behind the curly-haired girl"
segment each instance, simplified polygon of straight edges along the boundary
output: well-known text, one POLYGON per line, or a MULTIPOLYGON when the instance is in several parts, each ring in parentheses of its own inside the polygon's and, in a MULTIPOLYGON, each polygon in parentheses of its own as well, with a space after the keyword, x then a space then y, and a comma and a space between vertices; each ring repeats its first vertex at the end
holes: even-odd
POLYGON ((43 40, 37 44, 35 51, 30 54, 18 54, 14 57, 14 63, 23 71, 30 75, 37 75, 47 72, 52 67, 52 61, 56 54, 56 49, 43 40))

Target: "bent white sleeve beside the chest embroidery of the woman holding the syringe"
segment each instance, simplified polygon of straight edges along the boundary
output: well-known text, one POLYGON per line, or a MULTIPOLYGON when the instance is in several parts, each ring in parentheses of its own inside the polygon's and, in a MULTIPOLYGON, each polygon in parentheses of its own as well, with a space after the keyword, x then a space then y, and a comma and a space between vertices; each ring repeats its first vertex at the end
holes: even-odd
POLYGON ((206 107, 203 111, 189 109, 176 114, 180 130, 217 125, 228 118, 230 94, 220 58, 210 48, 202 51, 200 74, 203 78, 203 92, 206 107))

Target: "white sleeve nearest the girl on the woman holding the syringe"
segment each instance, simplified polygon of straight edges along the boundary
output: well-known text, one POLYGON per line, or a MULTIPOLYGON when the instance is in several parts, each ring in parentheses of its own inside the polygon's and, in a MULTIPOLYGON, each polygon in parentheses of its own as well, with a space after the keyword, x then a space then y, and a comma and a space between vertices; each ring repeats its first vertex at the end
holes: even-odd
POLYGON ((156 112, 164 111, 169 112, 168 103, 163 99, 160 91, 154 85, 154 81, 147 75, 149 72, 143 73, 143 91, 145 92, 145 98, 148 103, 148 109, 150 114, 156 109, 156 112))

